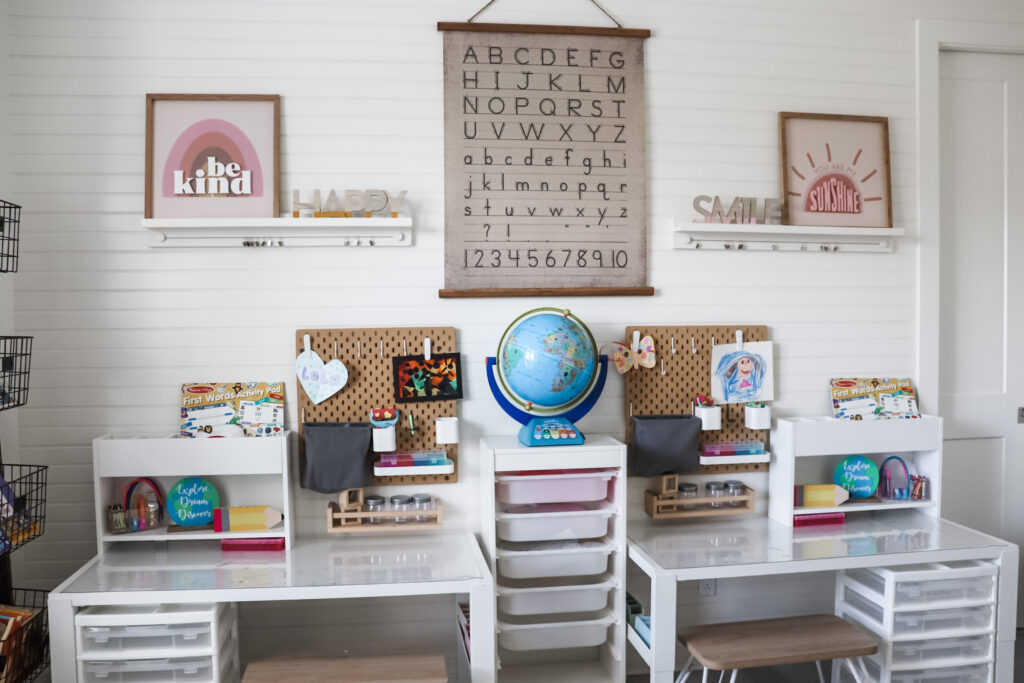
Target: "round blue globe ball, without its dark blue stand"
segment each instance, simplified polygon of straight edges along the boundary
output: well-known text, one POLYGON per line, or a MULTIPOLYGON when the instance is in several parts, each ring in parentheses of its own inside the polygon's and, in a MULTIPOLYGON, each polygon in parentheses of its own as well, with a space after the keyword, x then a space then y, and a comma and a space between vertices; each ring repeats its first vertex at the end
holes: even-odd
POLYGON ((557 414, 585 398, 596 377, 597 344, 575 315, 537 308, 508 327, 498 345, 498 379, 527 411, 557 414))

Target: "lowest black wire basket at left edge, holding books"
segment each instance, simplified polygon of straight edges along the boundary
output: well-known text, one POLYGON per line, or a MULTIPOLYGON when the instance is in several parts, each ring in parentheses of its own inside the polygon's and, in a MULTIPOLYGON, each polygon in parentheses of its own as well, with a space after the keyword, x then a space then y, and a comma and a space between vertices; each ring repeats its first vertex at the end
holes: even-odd
MULTIPOLYGON (((0 638, 0 683, 28 683, 50 665, 50 633, 46 613, 47 591, 15 588, 11 606, 33 609, 6 637, 0 638)), ((6 627, 5 627, 6 628, 6 627)))

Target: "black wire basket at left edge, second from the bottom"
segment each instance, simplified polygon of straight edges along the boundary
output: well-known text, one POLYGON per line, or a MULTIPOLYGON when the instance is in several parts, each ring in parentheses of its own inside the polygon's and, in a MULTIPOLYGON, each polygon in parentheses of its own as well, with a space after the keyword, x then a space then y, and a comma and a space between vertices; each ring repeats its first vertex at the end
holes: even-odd
POLYGON ((6 483, 0 483, 0 555, 43 535, 46 469, 46 465, 3 466, 6 483))

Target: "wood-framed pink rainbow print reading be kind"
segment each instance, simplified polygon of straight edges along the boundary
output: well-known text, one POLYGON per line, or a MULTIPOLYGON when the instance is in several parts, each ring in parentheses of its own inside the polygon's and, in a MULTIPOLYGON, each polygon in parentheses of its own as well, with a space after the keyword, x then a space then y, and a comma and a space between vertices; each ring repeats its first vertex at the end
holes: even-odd
POLYGON ((276 218, 280 95, 145 96, 146 218, 276 218))

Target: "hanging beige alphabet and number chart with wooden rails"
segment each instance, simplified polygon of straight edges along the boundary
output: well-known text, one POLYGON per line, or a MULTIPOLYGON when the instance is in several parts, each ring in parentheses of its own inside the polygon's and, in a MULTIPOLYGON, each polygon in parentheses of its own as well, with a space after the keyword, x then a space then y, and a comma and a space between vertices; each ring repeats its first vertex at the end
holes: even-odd
POLYGON ((438 28, 445 288, 645 287, 650 32, 438 28))

